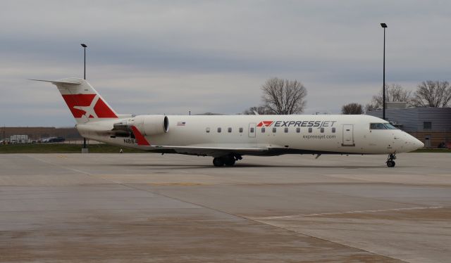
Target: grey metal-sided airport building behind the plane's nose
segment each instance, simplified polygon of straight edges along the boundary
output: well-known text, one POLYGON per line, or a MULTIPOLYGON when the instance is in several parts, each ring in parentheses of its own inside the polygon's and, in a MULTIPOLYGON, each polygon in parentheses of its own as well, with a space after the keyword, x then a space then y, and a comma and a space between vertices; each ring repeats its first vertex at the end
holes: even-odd
MULTIPOLYGON (((422 141, 425 148, 438 148, 443 143, 451 148, 451 108, 403 108, 398 104, 388 105, 386 120, 422 141)), ((383 116, 382 110, 366 114, 383 116)))

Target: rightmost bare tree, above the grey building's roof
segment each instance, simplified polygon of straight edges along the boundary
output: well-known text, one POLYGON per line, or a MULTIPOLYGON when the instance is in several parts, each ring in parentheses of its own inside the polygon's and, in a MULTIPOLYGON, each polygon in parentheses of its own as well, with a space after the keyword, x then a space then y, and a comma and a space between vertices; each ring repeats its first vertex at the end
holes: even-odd
POLYGON ((414 94, 416 107, 448 107, 451 105, 450 82, 428 80, 421 82, 414 94))

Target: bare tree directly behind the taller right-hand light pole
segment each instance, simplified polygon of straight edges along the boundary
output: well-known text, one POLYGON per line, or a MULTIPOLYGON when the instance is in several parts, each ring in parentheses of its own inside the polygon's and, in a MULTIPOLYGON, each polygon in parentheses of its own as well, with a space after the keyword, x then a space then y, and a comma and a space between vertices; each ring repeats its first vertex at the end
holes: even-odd
MULTIPOLYGON (((412 105, 412 91, 408 91, 400 84, 386 84, 385 85, 385 102, 400 101, 406 102, 407 105, 412 105)), ((382 108, 383 105, 383 91, 373 96, 371 103, 366 105, 366 111, 376 110, 382 108)))

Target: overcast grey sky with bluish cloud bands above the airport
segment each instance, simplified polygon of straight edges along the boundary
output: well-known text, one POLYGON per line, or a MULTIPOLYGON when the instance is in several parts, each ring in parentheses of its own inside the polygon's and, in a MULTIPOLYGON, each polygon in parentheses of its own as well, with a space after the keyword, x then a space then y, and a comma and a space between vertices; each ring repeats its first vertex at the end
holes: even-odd
POLYGON ((0 125, 73 126, 56 86, 82 77, 118 113, 241 113, 271 77, 305 113, 367 103, 386 79, 451 80, 451 1, 1 1, 0 125))

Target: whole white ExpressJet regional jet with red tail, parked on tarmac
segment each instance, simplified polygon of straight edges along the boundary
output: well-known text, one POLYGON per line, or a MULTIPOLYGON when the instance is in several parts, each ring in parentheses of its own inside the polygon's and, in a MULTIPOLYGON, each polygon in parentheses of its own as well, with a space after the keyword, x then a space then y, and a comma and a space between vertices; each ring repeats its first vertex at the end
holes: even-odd
MULTIPOLYGON (((32 79, 39 80, 39 79, 32 79)), ((156 153, 211 156, 233 166, 243 155, 395 154, 424 144, 369 115, 119 115, 84 79, 58 87, 80 134, 95 141, 156 153)))

